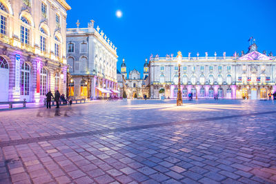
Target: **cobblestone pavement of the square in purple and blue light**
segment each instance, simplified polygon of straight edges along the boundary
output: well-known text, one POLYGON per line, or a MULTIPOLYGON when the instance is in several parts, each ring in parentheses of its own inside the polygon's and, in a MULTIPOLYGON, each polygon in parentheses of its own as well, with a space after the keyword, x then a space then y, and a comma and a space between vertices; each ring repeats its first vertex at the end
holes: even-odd
POLYGON ((276 183, 276 103, 100 101, 0 112, 0 183, 276 183))

